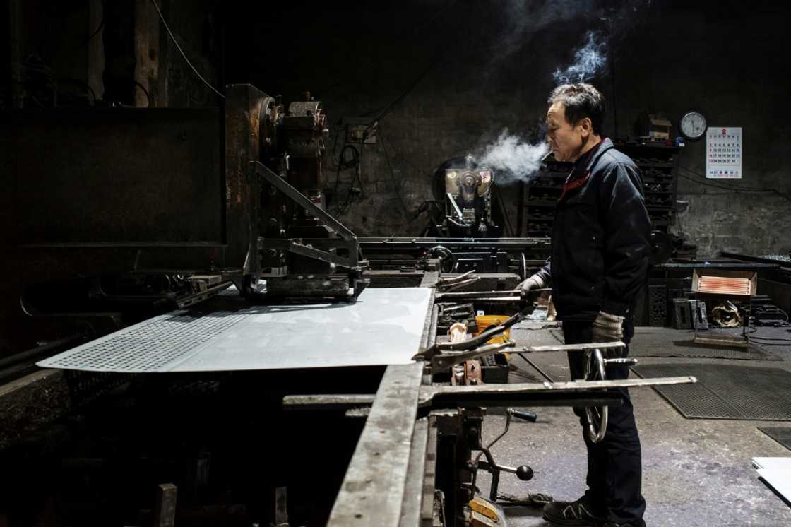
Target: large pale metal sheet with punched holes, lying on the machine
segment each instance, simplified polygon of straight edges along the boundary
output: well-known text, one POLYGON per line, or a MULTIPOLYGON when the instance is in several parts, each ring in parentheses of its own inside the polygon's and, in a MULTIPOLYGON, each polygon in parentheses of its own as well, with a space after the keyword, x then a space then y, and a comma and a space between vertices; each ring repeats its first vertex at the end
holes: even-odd
POLYGON ((38 366, 140 373, 407 364, 420 347, 431 293, 369 289, 354 303, 177 311, 38 366))

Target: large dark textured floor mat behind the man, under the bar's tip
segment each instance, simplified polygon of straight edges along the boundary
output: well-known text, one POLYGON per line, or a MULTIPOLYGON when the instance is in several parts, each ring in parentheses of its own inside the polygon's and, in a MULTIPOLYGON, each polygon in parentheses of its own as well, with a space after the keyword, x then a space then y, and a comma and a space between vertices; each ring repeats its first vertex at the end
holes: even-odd
POLYGON ((640 377, 698 377, 694 385, 654 389, 687 419, 791 420, 791 372, 725 364, 635 366, 640 377))

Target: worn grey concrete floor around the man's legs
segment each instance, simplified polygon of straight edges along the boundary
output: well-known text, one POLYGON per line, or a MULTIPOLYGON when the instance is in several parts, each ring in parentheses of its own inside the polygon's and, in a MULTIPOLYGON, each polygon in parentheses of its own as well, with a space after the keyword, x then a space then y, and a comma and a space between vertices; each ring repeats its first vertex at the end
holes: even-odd
MULTIPOLYGON (((639 346, 634 340, 632 346, 639 346)), ((791 347, 773 348, 780 361, 641 358, 642 364, 698 362, 741 364, 791 371, 791 347)), ((531 354, 530 358, 554 380, 568 380, 565 353, 531 354)), ((512 357, 511 382, 540 377, 517 356, 512 357)), ((634 375, 634 373, 633 373, 634 375)), ((791 457, 791 450, 757 427, 791 427, 780 421, 685 419, 653 389, 632 389, 635 417, 642 441, 643 495, 647 525, 671 527, 736 527, 791 525, 791 508, 774 494, 752 467, 751 457, 791 457)), ((534 408, 537 423, 514 420, 509 434, 492 449, 500 464, 528 464, 535 471, 529 482, 501 476, 500 491, 513 495, 543 492, 555 500, 577 499, 585 491, 585 444, 571 408, 534 408)), ((505 415, 492 411, 484 425, 490 441, 505 426, 505 415)), ((479 488, 488 495, 488 474, 479 475, 479 488)), ((539 509, 509 507, 508 525, 550 525, 539 509)))

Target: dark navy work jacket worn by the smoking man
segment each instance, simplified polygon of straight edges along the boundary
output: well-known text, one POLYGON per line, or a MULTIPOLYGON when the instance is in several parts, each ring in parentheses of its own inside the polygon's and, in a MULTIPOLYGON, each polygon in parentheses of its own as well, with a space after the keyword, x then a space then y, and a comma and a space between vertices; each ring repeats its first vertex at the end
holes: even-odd
POLYGON ((538 272, 552 285, 558 319, 630 317, 648 271, 650 231, 640 171, 605 138, 566 180, 551 258, 538 272))

